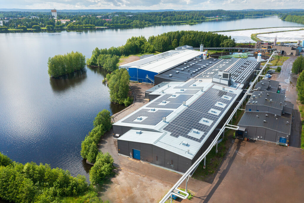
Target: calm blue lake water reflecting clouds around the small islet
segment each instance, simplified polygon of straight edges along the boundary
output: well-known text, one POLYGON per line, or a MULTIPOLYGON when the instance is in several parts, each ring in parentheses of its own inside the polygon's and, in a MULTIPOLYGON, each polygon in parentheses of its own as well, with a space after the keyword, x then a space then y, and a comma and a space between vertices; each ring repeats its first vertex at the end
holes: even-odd
POLYGON ((83 33, 0 33, 0 152, 20 163, 48 163, 88 177, 80 156, 81 141, 99 111, 116 113, 122 107, 109 102, 108 88, 102 84, 106 72, 86 68, 50 79, 49 57, 80 51, 89 58, 95 47, 120 46, 139 35, 272 26, 302 25, 265 17, 83 33))

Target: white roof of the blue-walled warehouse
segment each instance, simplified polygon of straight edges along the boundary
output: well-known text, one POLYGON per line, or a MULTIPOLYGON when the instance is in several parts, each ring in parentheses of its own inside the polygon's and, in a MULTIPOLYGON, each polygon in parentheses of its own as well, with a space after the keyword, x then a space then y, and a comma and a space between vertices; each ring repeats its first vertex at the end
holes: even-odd
POLYGON ((202 54, 203 52, 194 50, 171 50, 121 65, 119 68, 140 68, 146 71, 161 73, 202 54))

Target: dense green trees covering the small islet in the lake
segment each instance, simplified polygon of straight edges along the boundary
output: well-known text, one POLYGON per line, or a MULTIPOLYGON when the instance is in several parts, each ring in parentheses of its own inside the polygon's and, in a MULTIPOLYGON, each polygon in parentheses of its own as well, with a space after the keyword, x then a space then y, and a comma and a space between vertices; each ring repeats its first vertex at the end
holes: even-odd
POLYGON ((78 51, 59 54, 49 58, 47 65, 50 77, 58 77, 85 68, 85 56, 78 51))

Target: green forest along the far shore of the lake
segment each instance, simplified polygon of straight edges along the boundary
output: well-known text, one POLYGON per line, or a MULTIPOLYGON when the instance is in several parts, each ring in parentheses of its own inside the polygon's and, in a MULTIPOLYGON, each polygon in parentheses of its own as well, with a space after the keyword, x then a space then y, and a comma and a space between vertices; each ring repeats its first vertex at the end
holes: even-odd
MULTIPOLYGON (((90 13, 90 12, 57 12, 57 19, 69 19, 70 22, 63 24, 66 27, 73 23, 77 25, 94 25, 111 28, 143 27, 160 22, 188 22, 190 20, 201 21, 212 18, 244 18, 247 16, 266 15, 303 15, 303 12, 294 10, 253 10, 253 11, 226 11, 226 10, 204 10, 204 11, 164 11, 164 12, 115 12, 115 13, 90 13), (98 17, 97 17, 98 16, 98 17)), ((18 29, 18 26, 26 26, 28 29, 34 25, 55 27, 61 24, 55 22, 50 12, 0 12, 0 20, 9 19, 3 26, 10 29, 18 29), (51 19, 50 19, 51 18, 51 19)), ((67 27, 68 28, 68 27, 67 27)), ((78 26, 78 29, 82 27, 78 26)), ((69 29, 69 28, 68 28, 69 29)), ((75 28, 73 28, 75 29, 75 28)), ((1 30, 0 30, 1 31, 1 30)), ((2 30, 3 31, 3 30, 2 30)))

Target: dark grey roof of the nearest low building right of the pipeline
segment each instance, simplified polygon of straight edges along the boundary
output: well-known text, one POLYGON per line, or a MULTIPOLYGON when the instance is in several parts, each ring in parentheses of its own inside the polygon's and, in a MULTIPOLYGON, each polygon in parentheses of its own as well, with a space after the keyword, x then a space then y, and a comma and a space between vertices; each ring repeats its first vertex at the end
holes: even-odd
POLYGON ((246 127, 247 126, 263 127, 290 135, 291 121, 292 121, 291 114, 285 114, 284 116, 275 117, 275 114, 270 114, 270 113, 245 112, 241 117, 238 125, 246 126, 246 127), (268 115, 267 117, 266 114, 268 115), (266 122, 264 122, 264 120, 266 122), (286 124, 287 121, 289 124, 286 124))

